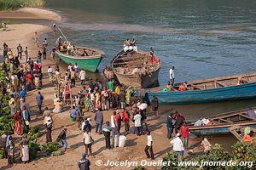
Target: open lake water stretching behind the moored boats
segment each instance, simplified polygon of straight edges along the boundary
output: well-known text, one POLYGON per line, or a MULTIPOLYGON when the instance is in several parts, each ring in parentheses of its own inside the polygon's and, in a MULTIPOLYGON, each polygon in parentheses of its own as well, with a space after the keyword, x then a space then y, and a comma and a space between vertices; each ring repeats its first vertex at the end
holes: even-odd
POLYGON ((101 48, 102 71, 125 38, 161 59, 160 84, 256 71, 256 1, 55 0, 69 41, 101 48))

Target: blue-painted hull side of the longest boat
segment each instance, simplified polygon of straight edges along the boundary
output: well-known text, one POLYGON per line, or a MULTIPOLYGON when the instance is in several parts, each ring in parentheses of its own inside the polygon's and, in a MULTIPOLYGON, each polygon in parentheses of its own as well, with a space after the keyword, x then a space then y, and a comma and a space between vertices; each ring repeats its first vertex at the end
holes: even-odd
POLYGON ((160 105, 183 105, 235 99, 253 99, 256 98, 256 82, 207 90, 148 92, 146 97, 151 100, 154 95, 157 96, 160 105))

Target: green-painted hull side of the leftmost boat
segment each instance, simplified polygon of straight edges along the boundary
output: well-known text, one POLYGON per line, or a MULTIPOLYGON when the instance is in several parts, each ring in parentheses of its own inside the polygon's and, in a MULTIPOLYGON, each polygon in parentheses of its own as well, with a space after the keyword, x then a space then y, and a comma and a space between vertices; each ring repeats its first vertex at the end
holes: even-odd
POLYGON ((91 59, 78 59, 78 58, 69 57, 65 54, 61 54, 60 52, 57 52, 56 54, 63 62, 67 64, 71 63, 72 65, 74 65, 75 63, 78 63, 79 68, 83 68, 85 71, 91 71, 91 72, 96 72, 98 66, 102 61, 102 56, 91 58, 91 59))

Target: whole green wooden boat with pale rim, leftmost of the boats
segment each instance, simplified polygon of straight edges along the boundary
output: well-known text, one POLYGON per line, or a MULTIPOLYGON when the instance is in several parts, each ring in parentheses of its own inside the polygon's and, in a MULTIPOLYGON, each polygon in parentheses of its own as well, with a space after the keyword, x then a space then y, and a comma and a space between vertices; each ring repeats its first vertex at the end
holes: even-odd
POLYGON ((74 65, 78 63, 79 68, 85 71, 96 72, 98 65, 102 61, 102 50, 95 48, 76 47, 74 50, 67 52, 66 50, 57 50, 56 54, 65 63, 74 65))

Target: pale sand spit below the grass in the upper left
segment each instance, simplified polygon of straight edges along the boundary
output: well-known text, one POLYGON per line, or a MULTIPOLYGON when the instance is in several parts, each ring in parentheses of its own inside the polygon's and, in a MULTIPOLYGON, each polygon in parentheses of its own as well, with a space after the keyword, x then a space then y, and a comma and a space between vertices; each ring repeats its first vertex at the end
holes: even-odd
POLYGON ((19 8, 15 11, 0 11, 0 19, 40 19, 61 22, 61 14, 57 14, 48 8, 19 8))

